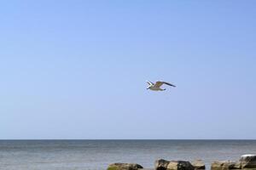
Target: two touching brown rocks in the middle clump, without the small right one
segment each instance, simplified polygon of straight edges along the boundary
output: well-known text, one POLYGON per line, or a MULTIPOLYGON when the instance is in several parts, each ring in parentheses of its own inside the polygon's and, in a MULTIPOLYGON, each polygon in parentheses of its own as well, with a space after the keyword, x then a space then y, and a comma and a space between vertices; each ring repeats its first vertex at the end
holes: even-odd
POLYGON ((189 161, 157 160, 154 163, 155 170, 194 170, 189 161))

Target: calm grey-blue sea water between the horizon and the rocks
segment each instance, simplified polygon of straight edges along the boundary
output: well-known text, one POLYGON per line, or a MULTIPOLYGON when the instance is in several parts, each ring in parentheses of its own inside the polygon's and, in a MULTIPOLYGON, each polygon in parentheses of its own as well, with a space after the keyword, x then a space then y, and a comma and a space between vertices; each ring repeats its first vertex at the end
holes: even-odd
POLYGON ((103 170, 113 162, 238 160, 256 140, 0 140, 1 170, 103 170))

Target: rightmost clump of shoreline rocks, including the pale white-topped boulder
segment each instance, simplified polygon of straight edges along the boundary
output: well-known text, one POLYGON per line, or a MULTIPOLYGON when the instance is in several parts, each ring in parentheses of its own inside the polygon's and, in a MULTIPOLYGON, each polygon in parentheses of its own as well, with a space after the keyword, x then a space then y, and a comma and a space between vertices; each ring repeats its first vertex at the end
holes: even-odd
POLYGON ((256 155, 243 155, 239 161, 214 161, 212 170, 244 169, 256 170, 256 155))

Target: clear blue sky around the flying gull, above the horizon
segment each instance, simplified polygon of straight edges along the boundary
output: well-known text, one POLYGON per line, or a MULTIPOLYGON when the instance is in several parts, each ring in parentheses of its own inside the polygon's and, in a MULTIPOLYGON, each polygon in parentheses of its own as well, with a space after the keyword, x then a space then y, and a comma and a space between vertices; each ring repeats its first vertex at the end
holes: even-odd
POLYGON ((2 1, 0 139, 256 139, 255 8, 2 1))

